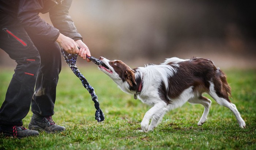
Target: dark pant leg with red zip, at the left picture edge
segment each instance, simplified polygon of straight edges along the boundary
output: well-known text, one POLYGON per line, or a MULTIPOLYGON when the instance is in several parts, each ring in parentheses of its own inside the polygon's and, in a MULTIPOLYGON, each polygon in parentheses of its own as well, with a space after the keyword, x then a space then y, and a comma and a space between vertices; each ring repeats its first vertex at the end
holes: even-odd
POLYGON ((3 13, 0 14, 0 48, 17 63, 0 108, 0 125, 22 126, 34 93, 40 55, 21 24, 3 13))

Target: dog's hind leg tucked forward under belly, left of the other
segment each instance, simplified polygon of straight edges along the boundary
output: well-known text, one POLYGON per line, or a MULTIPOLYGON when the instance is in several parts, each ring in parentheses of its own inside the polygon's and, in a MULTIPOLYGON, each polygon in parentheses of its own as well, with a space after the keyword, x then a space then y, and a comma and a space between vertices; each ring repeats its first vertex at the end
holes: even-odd
POLYGON ((204 106, 203 115, 197 123, 197 126, 202 126, 203 123, 207 120, 207 115, 209 114, 209 110, 211 107, 211 100, 201 95, 198 98, 189 99, 188 102, 191 104, 202 104, 204 106))

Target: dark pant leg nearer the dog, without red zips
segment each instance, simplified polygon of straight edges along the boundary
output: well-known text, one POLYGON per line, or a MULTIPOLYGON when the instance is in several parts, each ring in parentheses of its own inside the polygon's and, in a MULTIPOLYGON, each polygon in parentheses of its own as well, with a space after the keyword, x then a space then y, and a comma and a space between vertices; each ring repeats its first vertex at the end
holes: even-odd
POLYGON ((46 43, 26 29, 41 56, 41 66, 35 84, 31 111, 40 116, 52 116, 56 100, 56 86, 61 71, 61 52, 57 42, 46 43))

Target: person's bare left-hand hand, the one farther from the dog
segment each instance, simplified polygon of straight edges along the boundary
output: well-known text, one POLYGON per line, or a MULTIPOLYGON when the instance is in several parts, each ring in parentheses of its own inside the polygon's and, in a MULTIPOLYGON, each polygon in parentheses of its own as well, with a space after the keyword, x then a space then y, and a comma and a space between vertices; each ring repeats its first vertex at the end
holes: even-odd
POLYGON ((57 38, 56 42, 60 44, 60 46, 70 54, 78 54, 78 44, 71 38, 63 35, 60 33, 59 37, 57 38))

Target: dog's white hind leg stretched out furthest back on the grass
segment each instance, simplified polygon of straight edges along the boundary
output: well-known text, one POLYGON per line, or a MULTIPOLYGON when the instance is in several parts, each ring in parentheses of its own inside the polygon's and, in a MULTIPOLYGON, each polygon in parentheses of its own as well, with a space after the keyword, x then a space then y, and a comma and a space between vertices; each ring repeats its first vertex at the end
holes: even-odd
POLYGON ((223 92, 220 92, 220 91, 218 91, 218 94, 217 94, 217 92, 214 89, 214 84, 212 82, 210 82, 209 94, 218 104, 229 108, 234 113, 234 115, 236 116, 237 122, 241 128, 246 127, 246 124, 242 119, 242 117, 240 116, 240 113, 238 112, 236 105, 230 102, 227 94, 223 95, 223 92), (226 97, 226 99, 223 97, 226 97))

